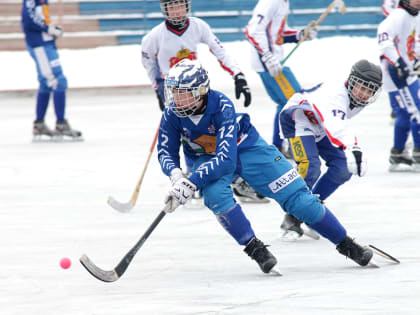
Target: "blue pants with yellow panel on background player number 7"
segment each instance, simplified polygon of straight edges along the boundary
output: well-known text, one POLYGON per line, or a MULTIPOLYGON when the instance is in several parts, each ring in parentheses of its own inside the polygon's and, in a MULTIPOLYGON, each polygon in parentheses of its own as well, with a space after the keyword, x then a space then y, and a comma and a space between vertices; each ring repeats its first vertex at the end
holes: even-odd
POLYGON ((279 136, 279 114, 293 94, 301 90, 299 82, 289 67, 283 67, 282 73, 273 78, 269 72, 258 72, 270 98, 277 104, 274 117, 273 144, 280 148, 283 140, 279 136))

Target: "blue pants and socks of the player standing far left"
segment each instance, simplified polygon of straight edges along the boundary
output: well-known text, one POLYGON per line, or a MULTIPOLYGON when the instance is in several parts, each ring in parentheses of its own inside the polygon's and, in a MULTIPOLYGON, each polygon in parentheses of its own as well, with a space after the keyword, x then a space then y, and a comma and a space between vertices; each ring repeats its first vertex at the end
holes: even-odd
POLYGON ((27 49, 35 61, 38 73, 39 90, 36 104, 36 119, 44 120, 50 93, 53 92, 57 120, 64 120, 67 79, 63 74, 55 44, 48 43, 40 47, 27 46, 27 49))

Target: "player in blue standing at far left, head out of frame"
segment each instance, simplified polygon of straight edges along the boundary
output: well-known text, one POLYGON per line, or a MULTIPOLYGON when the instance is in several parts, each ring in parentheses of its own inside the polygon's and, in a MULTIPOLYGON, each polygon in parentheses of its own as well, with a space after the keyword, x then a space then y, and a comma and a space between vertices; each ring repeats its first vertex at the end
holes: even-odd
POLYGON ((25 33, 26 47, 36 64, 39 81, 34 137, 45 135, 81 139, 82 133, 72 129, 65 119, 67 79, 55 46, 55 40, 63 35, 63 31, 51 24, 48 0, 23 1, 22 29, 25 33), (44 122, 51 93, 57 117, 55 131, 48 128, 44 122))

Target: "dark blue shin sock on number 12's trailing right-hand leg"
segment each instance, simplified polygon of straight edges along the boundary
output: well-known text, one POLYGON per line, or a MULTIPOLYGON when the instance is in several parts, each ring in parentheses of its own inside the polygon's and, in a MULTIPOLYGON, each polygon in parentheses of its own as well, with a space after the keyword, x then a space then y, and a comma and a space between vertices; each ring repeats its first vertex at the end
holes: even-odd
POLYGON ((324 208, 325 212, 321 219, 309 226, 337 245, 346 237, 347 231, 334 214, 327 207, 324 208))

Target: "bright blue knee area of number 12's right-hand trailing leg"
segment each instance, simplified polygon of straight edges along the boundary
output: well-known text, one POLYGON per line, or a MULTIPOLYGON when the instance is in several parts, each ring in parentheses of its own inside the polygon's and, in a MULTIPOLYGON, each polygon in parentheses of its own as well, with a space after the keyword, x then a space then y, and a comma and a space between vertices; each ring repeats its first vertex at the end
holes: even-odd
POLYGON ((308 224, 318 222, 324 214, 324 207, 318 197, 312 194, 307 187, 294 192, 283 204, 283 209, 308 224))

